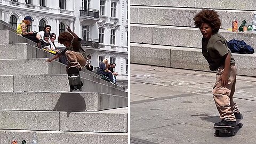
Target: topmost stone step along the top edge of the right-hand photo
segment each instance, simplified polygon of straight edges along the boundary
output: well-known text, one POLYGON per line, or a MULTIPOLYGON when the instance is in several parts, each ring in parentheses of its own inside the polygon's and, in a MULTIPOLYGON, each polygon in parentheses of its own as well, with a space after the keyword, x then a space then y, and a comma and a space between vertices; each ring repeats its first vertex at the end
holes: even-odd
POLYGON ((167 0, 167 1, 143 1, 133 0, 131 5, 146 5, 146 6, 166 6, 166 7, 198 7, 211 9, 233 9, 233 10, 256 10, 256 1, 221 1, 221 0, 167 0))

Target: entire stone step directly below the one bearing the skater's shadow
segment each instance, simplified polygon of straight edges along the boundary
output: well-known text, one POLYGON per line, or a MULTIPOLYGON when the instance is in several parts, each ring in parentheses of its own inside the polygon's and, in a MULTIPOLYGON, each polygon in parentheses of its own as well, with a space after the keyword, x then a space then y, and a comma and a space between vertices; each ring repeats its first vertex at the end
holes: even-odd
POLYGON ((127 107, 81 112, 0 110, 0 129, 126 133, 127 125, 127 107))

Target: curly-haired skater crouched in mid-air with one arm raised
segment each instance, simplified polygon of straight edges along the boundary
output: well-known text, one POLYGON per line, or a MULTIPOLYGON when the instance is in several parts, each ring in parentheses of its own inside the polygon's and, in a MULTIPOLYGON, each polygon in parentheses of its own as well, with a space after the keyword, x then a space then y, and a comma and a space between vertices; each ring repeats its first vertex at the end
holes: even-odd
POLYGON ((58 42, 65 45, 66 49, 61 53, 54 55, 51 59, 47 59, 46 61, 51 62, 52 60, 59 58, 61 55, 66 55, 68 60, 66 71, 71 66, 75 66, 79 69, 79 71, 81 71, 82 66, 85 66, 87 61, 86 53, 81 46, 82 39, 78 38, 78 36, 71 31, 69 26, 67 27, 67 30, 68 31, 61 33, 58 37, 58 42))

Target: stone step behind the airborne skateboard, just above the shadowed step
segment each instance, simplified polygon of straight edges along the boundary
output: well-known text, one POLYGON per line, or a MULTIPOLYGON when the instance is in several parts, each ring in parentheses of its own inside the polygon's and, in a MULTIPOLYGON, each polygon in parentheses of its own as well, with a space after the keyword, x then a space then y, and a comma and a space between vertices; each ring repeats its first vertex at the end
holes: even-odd
MULTIPOLYGON (((127 97, 115 87, 81 78, 82 92, 99 92, 127 97)), ((68 76, 63 75, 0 75, 1 92, 69 92, 68 76)))

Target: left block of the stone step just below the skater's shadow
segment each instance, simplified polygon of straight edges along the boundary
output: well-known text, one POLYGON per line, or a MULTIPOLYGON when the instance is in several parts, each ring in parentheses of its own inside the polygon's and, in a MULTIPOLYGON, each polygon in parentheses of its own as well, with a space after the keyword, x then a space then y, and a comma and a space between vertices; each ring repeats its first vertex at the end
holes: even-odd
MULTIPOLYGON (((12 103, 15 105, 15 103, 12 103)), ((44 111, 0 111, 0 128, 17 130, 59 130, 59 113, 44 111)))

